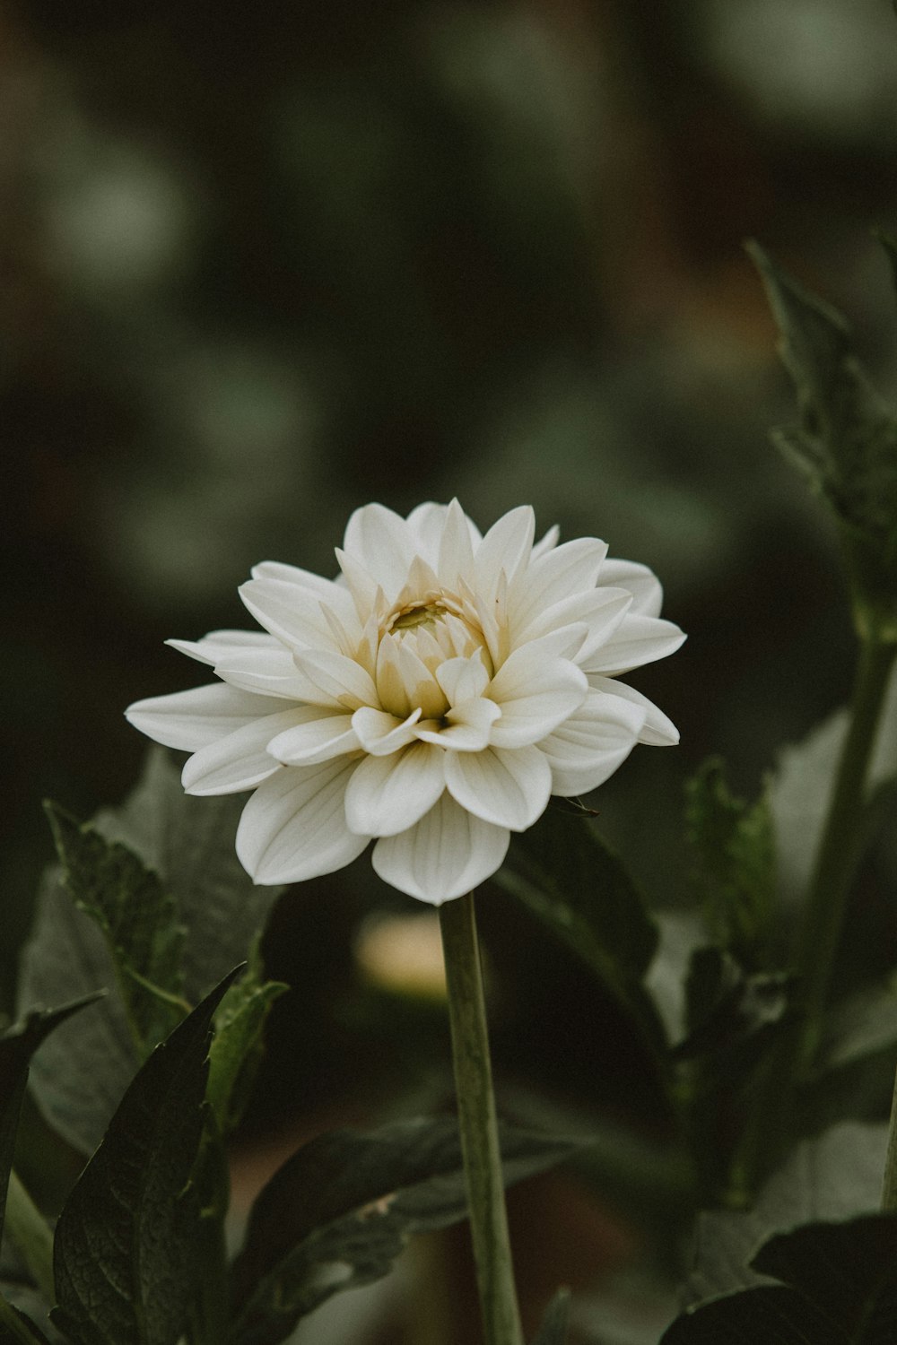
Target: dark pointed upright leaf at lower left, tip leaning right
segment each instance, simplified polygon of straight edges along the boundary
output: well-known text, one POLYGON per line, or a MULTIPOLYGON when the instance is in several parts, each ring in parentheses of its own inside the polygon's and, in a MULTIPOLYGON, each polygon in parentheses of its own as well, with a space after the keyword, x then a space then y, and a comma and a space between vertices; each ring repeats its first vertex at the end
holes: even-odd
POLYGON ((59 1216, 52 1321, 73 1345, 175 1345, 183 1333, 211 1021, 238 970, 156 1046, 59 1216))

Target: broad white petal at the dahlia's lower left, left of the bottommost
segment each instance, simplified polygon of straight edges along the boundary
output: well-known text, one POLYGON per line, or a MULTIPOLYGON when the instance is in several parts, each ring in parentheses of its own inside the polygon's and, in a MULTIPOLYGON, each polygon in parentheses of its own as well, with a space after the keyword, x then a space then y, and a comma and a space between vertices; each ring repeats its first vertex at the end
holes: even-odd
POLYGON ((370 837, 346 826, 346 785, 355 761, 281 767, 243 808, 237 827, 239 862, 256 882, 303 882, 334 873, 362 853, 370 837))

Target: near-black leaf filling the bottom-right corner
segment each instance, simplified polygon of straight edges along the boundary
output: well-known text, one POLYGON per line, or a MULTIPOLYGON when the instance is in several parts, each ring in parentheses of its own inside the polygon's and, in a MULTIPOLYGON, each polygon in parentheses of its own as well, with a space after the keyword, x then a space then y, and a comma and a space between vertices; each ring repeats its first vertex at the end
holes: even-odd
POLYGON ((806 1224, 764 1243, 752 1270, 781 1280, 676 1318, 662 1345, 893 1345, 897 1217, 806 1224))

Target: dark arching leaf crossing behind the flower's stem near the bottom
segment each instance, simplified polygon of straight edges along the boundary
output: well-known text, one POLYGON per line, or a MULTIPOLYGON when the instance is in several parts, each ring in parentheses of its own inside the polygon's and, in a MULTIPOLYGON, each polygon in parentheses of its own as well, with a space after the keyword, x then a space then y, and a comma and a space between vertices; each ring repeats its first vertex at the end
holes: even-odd
MULTIPOLYGON (((504 1180, 543 1171, 584 1143, 502 1127, 504 1180)), ((276 1345, 331 1294, 385 1275, 412 1236, 465 1213, 453 1118, 313 1139, 274 1174, 249 1217, 234 1264, 233 1342, 276 1345)))

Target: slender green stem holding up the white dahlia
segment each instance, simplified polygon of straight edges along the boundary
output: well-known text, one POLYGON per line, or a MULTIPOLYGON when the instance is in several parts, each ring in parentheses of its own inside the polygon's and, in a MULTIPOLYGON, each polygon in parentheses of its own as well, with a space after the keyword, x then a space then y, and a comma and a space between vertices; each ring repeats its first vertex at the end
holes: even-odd
POLYGON ((523 1345, 504 1208, 473 893, 440 907, 452 1059, 485 1345, 523 1345))

